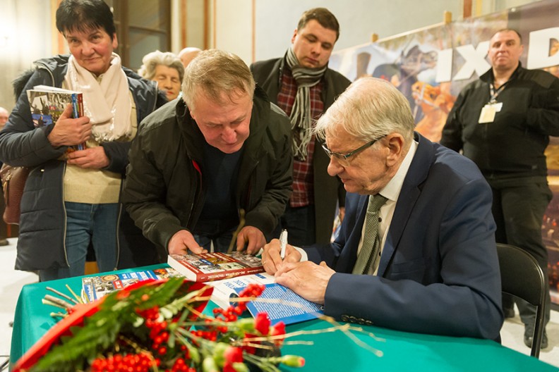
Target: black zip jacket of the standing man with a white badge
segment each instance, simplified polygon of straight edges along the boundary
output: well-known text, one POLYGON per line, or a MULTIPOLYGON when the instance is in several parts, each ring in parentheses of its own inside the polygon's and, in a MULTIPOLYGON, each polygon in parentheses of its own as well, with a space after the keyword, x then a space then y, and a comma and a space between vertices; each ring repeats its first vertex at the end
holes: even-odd
POLYGON ((503 104, 493 123, 479 124, 490 99, 493 69, 460 92, 440 143, 473 160, 486 177, 547 175, 544 151, 559 135, 559 79, 518 66, 496 101, 503 104))

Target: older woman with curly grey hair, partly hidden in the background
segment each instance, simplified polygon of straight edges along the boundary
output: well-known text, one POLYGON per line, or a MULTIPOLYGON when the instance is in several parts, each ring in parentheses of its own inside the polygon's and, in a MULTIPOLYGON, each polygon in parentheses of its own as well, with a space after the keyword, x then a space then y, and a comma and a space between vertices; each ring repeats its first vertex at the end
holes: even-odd
POLYGON ((144 56, 142 63, 138 74, 157 82, 157 87, 167 94, 169 101, 179 97, 184 67, 176 54, 170 51, 152 51, 144 56))

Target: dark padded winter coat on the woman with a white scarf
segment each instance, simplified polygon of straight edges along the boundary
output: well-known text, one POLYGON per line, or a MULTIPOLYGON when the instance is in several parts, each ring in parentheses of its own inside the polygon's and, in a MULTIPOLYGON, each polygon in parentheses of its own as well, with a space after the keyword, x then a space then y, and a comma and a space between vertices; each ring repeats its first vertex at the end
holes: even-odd
MULTIPOLYGON (((35 72, 30 75, 16 107, 0 132, 0 161, 11 166, 33 167, 21 200, 21 216, 18 236, 18 254, 16 269, 35 271, 47 268, 67 267, 66 247, 66 213, 64 209, 63 178, 66 162, 58 160, 66 152, 67 147, 52 147, 47 136, 52 125, 35 128, 31 118, 31 110, 26 94, 27 89, 35 85, 61 87, 68 69, 68 55, 57 55, 35 62, 35 72)), ((148 116, 157 106, 164 103, 164 97, 157 91, 157 86, 143 80, 132 70, 124 68, 128 77, 128 87, 136 101, 138 123, 148 116)), ((106 142, 101 144, 109 158, 107 171, 124 175, 128 164, 130 142, 106 142)), ((128 216, 119 220, 124 223, 128 216)), ((141 240, 138 231, 131 226, 124 228, 131 235, 124 236, 119 231, 119 239, 141 240)), ((122 249, 128 244, 119 244, 122 249)), ((155 247, 145 246, 143 256, 137 263, 131 261, 131 252, 117 252, 119 268, 139 266, 155 260, 155 247), (148 261, 143 257, 150 256, 148 261), (126 256, 124 259, 123 256, 126 256), (126 262, 122 262, 126 261, 126 262)), ((142 250, 138 247, 140 251, 142 250)))

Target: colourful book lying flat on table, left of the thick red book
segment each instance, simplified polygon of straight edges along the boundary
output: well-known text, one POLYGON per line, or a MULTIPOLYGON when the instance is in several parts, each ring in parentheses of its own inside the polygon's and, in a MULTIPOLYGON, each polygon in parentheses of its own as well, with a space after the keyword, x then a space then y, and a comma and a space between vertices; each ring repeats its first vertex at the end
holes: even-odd
POLYGON ((155 268, 153 270, 132 271, 128 273, 104 273, 82 279, 83 302, 92 302, 127 285, 148 279, 165 279, 181 276, 173 268, 155 268))

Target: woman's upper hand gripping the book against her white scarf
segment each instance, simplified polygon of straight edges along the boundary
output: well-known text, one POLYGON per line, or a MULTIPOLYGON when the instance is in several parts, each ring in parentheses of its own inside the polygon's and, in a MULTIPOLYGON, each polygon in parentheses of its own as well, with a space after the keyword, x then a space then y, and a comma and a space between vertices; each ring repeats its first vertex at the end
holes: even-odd
POLYGON ((68 104, 61 114, 52 131, 48 135, 48 140, 53 147, 74 146, 81 144, 91 135, 91 124, 87 116, 72 118, 72 105, 68 104))

